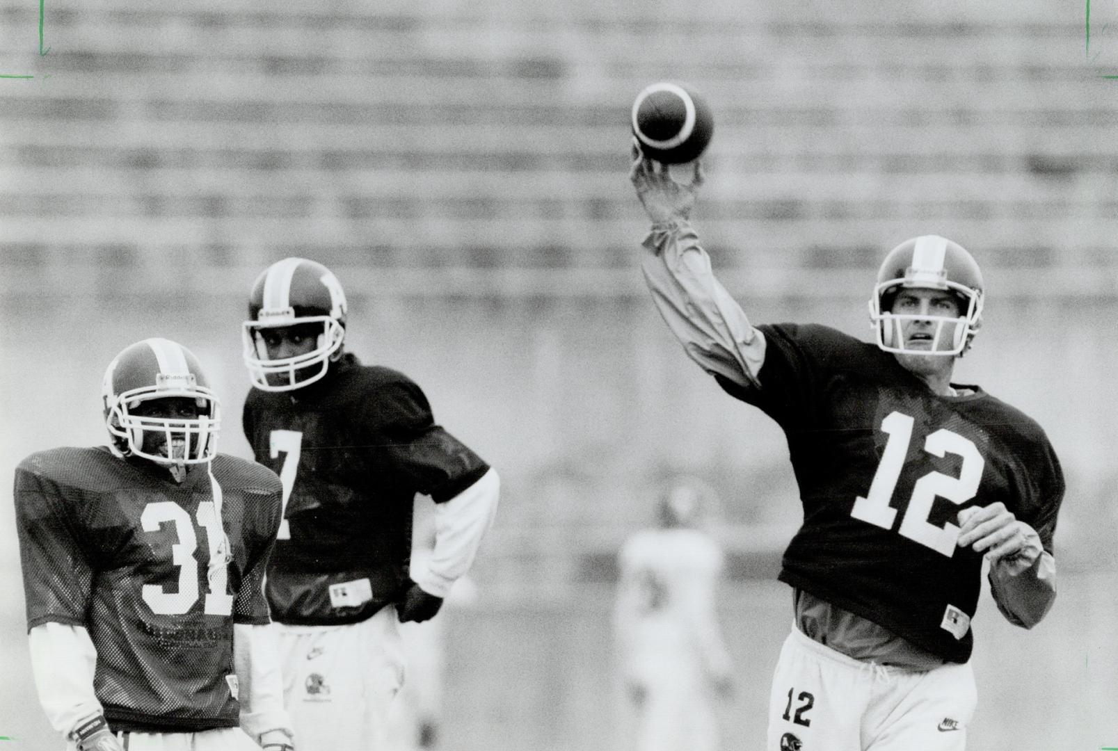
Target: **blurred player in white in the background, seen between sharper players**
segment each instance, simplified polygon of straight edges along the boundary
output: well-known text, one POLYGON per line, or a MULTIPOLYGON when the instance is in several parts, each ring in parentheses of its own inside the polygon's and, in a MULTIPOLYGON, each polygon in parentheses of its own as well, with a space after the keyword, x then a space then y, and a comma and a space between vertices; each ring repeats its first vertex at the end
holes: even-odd
POLYGON ((618 555, 615 644, 637 751, 719 748, 717 704, 733 678, 716 612, 723 554, 702 529, 713 502, 704 483, 676 479, 657 525, 618 555))

